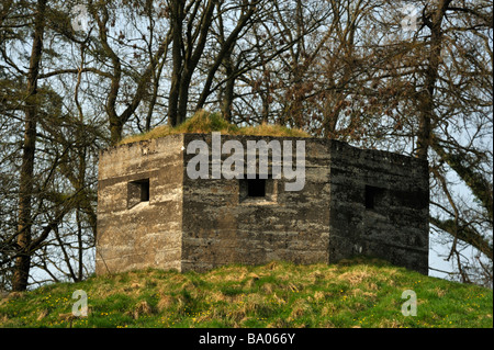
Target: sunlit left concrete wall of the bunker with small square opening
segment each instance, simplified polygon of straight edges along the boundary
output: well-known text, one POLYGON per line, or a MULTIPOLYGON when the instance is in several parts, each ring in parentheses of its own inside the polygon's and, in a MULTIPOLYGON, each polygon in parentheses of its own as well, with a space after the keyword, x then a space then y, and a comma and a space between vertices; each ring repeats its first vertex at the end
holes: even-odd
POLYGON ((183 135, 100 155, 98 274, 147 267, 180 270, 183 135), (142 190, 148 183, 147 201, 142 190))

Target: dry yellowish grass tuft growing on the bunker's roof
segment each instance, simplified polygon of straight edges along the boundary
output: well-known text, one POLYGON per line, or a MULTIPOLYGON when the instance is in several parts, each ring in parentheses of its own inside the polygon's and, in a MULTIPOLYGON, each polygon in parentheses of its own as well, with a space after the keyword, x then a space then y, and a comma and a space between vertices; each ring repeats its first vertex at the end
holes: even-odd
POLYGON ((221 132, 222 134, 229 135, 310 137, 304 131, 288 128, 281 125, 261 124, 258 126, 238 127, 225 121, 221 113, 199 111, 192 117, 176 127, 170 127, 168 125, 157 126, 148 133, 128 136, 121 140, 120 145, 173 134, 210 134, 212 132, 221 132))

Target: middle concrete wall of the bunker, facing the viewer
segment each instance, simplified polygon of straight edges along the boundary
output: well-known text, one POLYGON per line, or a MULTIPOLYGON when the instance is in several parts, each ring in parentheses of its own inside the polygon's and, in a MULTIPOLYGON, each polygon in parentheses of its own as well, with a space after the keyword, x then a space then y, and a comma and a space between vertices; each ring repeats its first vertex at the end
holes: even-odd
MULTIPOLYGON (((207 143, 211 151, 211 135, 186 135, 186 145, 198 138, 207 143)), ((228 139, 239 140, 247 153, 247 139, 263 139, 269 144, 274 138, 222 135, 222 143, 228 139)), ((295 138, 283 140, 292 140, 294 149, 295 138)), ((193 156, 184 155, 184 162, 193 156)), ((223 160, 228 156, 223 155, 223 160)), ((302 191, 290 192, 284 189, 284 177, 272 179, 272 158, 269 157, 266 185, 272 189, 268 189, 270 193, 261 199, 243 193, 242 185, 247 180, 192 180, 184 174, 182 270, 205 270, 234 262, 259 264, 272 260, 327 263, 328 166, 327 145, 322 140, 305 139, 305 185, 302 191)), ((211 167, 210 161, 210 173, 211 167)))

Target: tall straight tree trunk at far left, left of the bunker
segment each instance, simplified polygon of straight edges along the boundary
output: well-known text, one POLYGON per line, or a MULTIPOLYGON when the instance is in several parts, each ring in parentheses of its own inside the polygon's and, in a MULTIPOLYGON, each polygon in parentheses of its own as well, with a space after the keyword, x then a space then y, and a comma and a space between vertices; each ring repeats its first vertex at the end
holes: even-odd
POLYGON ((43 55, 44 15, 47 0, 38 0, 34 20, 34 37, 27 74, 24 143, 19 188, 18 246, 19 255, 12 280, 14 291, 25 291, 31 268, 32 218, 31 197, 33 193, 34 154, 36 150, 37 78, 43 55))

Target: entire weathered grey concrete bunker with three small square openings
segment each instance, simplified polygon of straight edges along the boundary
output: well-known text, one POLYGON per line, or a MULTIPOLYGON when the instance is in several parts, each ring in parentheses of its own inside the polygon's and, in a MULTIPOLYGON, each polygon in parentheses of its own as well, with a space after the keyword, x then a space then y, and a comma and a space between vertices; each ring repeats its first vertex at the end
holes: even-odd
MULTIPOLYGON (((262 182, 191 179, 186 169, 194 155, 187 147, 198 139, 211 150, 212 135, 180 134, 100 154, 98 274, 271 260, 332 263, 356 255, 427 274, 426 161, 303 138, 305 184, 287 191, 288 180, 272 176, 272 157, 262 182), (255 185, 262 185, 261 194, 252 194, 255 185)), ((245 149, 259 139, 302 138, 222 135, 245 149)))

